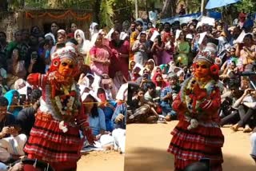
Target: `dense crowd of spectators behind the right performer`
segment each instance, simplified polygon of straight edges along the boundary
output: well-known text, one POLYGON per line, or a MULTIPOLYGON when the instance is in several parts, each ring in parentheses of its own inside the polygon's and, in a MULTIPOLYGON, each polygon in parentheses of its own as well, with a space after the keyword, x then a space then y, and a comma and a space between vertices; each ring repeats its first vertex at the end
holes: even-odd
POLYGON ((198 69, 194 59, 207 49, 216 57, 210 70, 216 70, 219 75, 222 105, 218 109, 218 124, 252 133, 251 155, 255 159, 256 90, 252 71, 255 70, 256 27, 251 24, 250 14, 239 21, 233 26, 222 21, 215 21, 213 26, 195 19, 155 26, 141 20, 132 23, 127 123, 177 120, 173 102, 186 78, 198 69))

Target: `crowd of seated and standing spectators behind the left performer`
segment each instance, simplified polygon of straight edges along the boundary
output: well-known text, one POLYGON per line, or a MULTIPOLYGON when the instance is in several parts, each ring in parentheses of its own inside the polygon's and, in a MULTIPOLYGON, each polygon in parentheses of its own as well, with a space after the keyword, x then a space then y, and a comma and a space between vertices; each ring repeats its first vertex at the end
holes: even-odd
MULTIPOLYGON (((27 76, 47 74, 52 54, 66 45, 77 50, 80 74, 75 80, 95 137, 94 148, 125 153, 129 30, 117 21, 107 34, 94 22, 90 26, 90 40, 85 33, 75 23, 62 30, 53 22, 48 34, 34 26, 30 31, 16 31, 14 40, 7 42, 6 34, 0 31, 1 170, 26 156, 23 147, 40 108, 42 89, 29 85, 27 76)), ((87 141, 82 149, 86 146, 87 141)))

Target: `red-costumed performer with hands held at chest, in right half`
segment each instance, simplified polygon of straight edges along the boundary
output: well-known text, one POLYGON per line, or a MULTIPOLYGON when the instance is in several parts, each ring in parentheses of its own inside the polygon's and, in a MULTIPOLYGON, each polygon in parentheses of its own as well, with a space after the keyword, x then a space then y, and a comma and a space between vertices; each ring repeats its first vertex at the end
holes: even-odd
POLYGON ((175 170, 210 159, 210 169, 222 170, 224 137, 219 126, 221 105, 218 88, 218 66, 214 64, 217 46, 208 42, 206 49, 194 58, 194 73, 182 84, 172 106, 178 113, 178 125, 168 152, 174 154, 175 170))

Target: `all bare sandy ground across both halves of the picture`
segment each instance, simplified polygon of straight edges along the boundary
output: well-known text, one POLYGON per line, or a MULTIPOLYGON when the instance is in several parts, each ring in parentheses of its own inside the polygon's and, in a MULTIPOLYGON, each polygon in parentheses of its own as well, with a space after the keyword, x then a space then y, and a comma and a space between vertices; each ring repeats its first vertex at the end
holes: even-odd
MULTIPOLYGON (((174 157, 166 152, 170 143, 170 131, 177 124, 131 124, 127 125, 126 154, 117 152, 92 152, 82 156, 78 171, 171 171, 174 170, 174 157)), ((250 136, 248 133, 234 133, 223 128, 225 136, 222 153, 223 170, 256 170, 250 158, 250 136)))

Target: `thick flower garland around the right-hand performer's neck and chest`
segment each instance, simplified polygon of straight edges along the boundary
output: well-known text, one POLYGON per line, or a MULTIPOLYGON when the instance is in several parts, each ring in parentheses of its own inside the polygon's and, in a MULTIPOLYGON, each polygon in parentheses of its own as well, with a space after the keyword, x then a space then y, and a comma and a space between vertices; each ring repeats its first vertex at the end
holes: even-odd
POLYGON ((194 77, 190 77, 186 79, 181 89, 181 99, 185 102, 186 108, 188 109, 185 115, 190 118, 198 118, 203 114, 200 105, 203 101, 206 101, 207 97, 210 97, 210 94, 216 87, 216 82, 210 80, 206 85, 202 85, 199 89, 200 91, 195 92, 194 85, 196 83, 199 85, 194 77))

